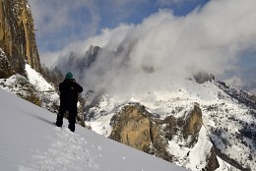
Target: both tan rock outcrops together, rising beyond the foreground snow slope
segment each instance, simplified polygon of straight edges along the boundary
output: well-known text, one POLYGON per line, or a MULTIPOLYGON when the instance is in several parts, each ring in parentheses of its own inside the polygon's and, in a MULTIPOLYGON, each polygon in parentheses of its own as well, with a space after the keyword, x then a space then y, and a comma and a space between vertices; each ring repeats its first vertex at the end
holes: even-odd
MULTIPOLYGON (((128 104, 112 117, 109 138, 173 162, 177 156, 167 149, 169 142, 178 137, 184 148, 193 148, 203 125, 198 105, 186 112, 181 118, 170 115, 160 119, 139 103, 128 104)), ((214 147, 208 156, 204 169, 216 170, 219 163, 214 147)))

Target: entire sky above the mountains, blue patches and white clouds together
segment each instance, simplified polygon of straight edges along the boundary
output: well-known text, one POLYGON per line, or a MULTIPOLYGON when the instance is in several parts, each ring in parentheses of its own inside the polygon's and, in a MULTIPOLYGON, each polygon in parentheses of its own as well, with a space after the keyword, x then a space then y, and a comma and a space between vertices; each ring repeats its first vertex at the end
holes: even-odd
POLYGON ((174 72, 167 68, 180 73, 196 68, 237 87, 250 83, 250 90, 256 93, 255 0, 29 3, 38 29, 40 59, 46 66, 56 65, 71 51, 85 53, 90 45, 114 50, 137 42, 131 50, 136 58, 133 66, 150 65, 166 73, 174 72))

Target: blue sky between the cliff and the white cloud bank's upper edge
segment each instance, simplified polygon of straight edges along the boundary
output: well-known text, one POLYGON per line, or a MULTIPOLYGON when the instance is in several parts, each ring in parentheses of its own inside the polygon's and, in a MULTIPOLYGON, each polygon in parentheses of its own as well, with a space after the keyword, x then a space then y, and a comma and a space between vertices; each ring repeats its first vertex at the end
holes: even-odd
POLYGON ((75 0, 76 3, 72 2, 74 1, 29 0, 40 51, 62 49, 70 41, 100 33, 102 28, 115 28, 120 24, 140 24, 160 9, 171 10, 175 16, 185 16, 195 8, 204 6, 208 0, 75 0), (69 7, 70 9, 67 9, 69 7), (61 11, 65 14, 63 15, 61 11), (53 18, 54 14, 55 18, 53 18), (57 24, 59 21, 60 24, 57 24))

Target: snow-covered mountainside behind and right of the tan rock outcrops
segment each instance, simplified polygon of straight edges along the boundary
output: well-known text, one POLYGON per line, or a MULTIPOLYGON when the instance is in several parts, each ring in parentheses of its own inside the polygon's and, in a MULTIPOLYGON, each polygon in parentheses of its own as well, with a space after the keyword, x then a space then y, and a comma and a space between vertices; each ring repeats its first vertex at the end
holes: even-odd
MULTIPOLYGON (((186 82, 191 83, 194 86, 194 87, 191 87, 192 85, 189 85, 191 87, 190 92, 188 89, 185 89, 179 86, 175 88, 174 93, 173 91, 166 90, 166 89, 163 90, 163 92, 159 92, 160 96, 156 95, 156 92, 148 92, 148 93, 146 92, 144 93, 144 97, 143 95, 138 94, 138 95, 134 95, 131 98, 131 100, 141 103, 148 109, 148 111, 151 111, 151 114, 153 114, 154 116, 160 117, 162 119, 164 119, 167 116, 174 116, 175 118, 180 118, 184 116, 184 113, 186 113, 186 110, 184 109, 186 109, 190 105, 190 103, 192 104, 194 101, 200 104, 200 108, 203 113, 203 125, 208 130, 208 134, 210 136, 209 142, 213 144, 217 154, 220 156, 226 155, 227 157, 225 157, 225 161, 229 162, 229 164, 233 164, 237 169, 253 170, 255 167, 253 164, 253 158, 255 158, 254 156, 255 144, 253 143, 255 141, 254 130, 256 128, 255 124, 253 125, 253 123, 255 122, 255 110, 252 109, 251 106, 246 106, 247 104, 246 102, 241 103, 237 99, 231 97, 230 94, 227 94, 222 88, 218 86, 220 83, 216 81, 206 82, 204 84, 198 84, 195 81, 189 81, 189 80, 187 80, 186 82), (200 86, 200 87, 197 87, 197 86, 200 86), (202 91, 203 88, 205 91, 202 91), (196 91, 196 89, 198 91, 196 91), (168 91, 168 93, 165 93, 164 91, 166 92, 168 91), (185 95, 187 92, 189 92, 188 94, 190 95, 185 95), (155 97, 151 98, 150 95, 148 95, 148 97, 145 97, 145 94, 149 94, 149 93, 151 94, 155 93, 155 97), (170 94, 170 96, 172 97, 167 98, 167 94, 170 94), (152 101, 149 101, 149 99, 151 99, 152 101), (154 102, 154 100, 156 101, 154 102), (162 108, 160 107, 163 107, 164 110, 162 110, 162 108), (253 112, 253 113, 250 114, 250 112, 253 112), (230 124, 233 123, 233 124, 229 125, 227 123, 230 123, 230 124), (231 131, 230 130, 231 128, 234 129, 235 132, 231 131), (247 136, 245 136, 246 134, 247 136), (250 139, 248 139, 247 137, 249 137, 250 139), (247 141, 244 142, 244 140, 247 140, 247 141), (232 149, 231 148, 228 149, 229 148, 228 146, 232 146, 232 147, 236 146, 237 148, 244 148, 246 150, 244 153, 241 151, 238 152, 239 151, 238 150, 238 151, 234 151, 232 154, 232 151, 231 151, 232 149), (228 149, 229 151, 224 149, 228 149), (246 151, 248 151, 248 154, 246 151), (239 159, 238 155, 235 154, 235 152, 237 152, 238 155, 241 155, 243 157, 239 159), (251 160, 247 161, 246 159, 249 155, 251 156, 250 157, 251 160), (229 158, 229 160, 227 158, 229 158), (233 160, 231 160, 232 158, 233 160), (251 164, 248 164, 248 163, 251 163, 251 164)), ((91 113, 91 114, 89 113, 89 115, 93 116, 93 118, 91 118, 90 119, 91 121, 89 120, 87 124, 92 125, 93 130, 96 130, 98 134, 104 135, 104 132, 102 131, 104 129, 102 127, 100 129, 100 127, 96 126, 95 123, 97 122, 97 120, 103 120, 104 117, 107 117, 108 113, 115 116, 115 113, 118 113, 119 111, 118 108, 120 108, 120 107, 118 107, 117 109, 114 109, 111 107, 107 108, 107 106, 122 106, 122 104, 129 105, 129 102, 128 102, 129 100, 127 102, 121 102, 122 104, 118 103, 118 101, 120 101, 120 99, 114 96, 113 97, 104 96, 103 98, 101 98, 98 101, 97 105, 92 107, 91 110, 89 109, 89 112, 91 113), (115 99, 111 99, 111 98, 115 98, 115 99), (117 102, 117 104, 112 104, 112 102, 113 103, 117 102)), ((103 125, 103 127, 105 127, 105 125, 103 125)), ((107 128, 105 129, 107 130, 107 128)), ((172 143, 176 145, 175 142, 171 142, 171 144, 172 143)), ((176 142, 176 143, 178 144, 179 142, 176 142)), ((176 157, 180 158, 179 156, 176 156, 176 157)), ((189 169, 195 170, 195 168, 194 169, 189 168, 189 169)))

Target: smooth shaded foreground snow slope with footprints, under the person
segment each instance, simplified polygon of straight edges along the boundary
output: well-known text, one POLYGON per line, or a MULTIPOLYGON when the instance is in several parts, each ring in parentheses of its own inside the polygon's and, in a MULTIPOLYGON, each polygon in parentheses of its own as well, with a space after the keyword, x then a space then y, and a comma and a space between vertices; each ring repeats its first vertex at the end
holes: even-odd
POLYGON ((152 155, 77 126, 53 124, 47 110, 0 89, 0 168, 5 171, 183 171, 152 155))

